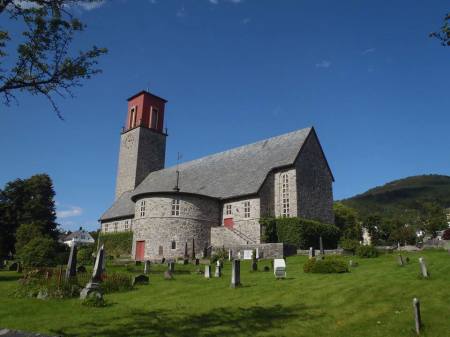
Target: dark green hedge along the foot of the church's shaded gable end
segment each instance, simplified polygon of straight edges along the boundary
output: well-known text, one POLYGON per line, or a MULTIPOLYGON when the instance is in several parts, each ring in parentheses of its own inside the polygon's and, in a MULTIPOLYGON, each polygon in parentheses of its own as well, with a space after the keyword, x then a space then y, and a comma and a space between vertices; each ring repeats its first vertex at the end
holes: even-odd
POLYGON ((265 242, 283 242, 300 249, 319 247, 319 237, 327 249, 337 247, 339 228, 315 220, 303 218, 269 218, 262 219, 262 239, 265 242))

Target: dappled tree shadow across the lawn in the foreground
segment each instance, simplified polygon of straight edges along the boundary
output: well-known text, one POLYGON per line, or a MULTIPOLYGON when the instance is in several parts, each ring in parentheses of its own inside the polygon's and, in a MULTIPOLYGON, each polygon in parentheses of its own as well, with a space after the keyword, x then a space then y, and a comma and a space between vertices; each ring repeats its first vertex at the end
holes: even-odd
POLYGON ((312 314, 307 307, 302 305, 216 308, 201 314, 173 313, 165 309, 158 311, 135 310, 127 317, 116 317, 95 323, 81 323, 78 326, 54 330, 52 333, 67 337, 249 336, 281 328, 286 326, 290 320, 306 321, 318 316, 320 315, 312 314), (77 331, 78 329, 82 331, 77 331))

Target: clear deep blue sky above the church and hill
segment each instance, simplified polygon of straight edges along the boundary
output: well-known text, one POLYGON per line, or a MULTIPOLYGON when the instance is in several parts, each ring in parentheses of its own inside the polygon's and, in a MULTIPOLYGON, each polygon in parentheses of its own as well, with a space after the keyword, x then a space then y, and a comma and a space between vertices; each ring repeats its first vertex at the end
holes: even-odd
MULTIPOLYGON (((450 171, 448 1, 117 0, 76 9, 103 74, 0 105, 0 185, 46 172, 59 222, 97 227, 114 197, 126 98, 166 98, 166 164, 315 126, 335 199, 450 171)), ((3 19, 2 19, 3 20, 3 19)), ((8 26, 5 21, 1 25, 8 26)))

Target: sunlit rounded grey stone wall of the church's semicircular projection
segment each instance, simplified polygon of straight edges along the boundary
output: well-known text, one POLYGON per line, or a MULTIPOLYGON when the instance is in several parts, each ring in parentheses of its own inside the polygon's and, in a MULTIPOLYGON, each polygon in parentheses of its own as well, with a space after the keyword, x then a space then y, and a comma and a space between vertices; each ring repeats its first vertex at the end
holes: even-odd
POLYGON ((211 227, 217 226, 219 219, 219 203, 213 199, 183 194, 139 199, 133 223, 132 256, 135 256, 136 241, 145 241, 145 259, 182 257, 186 242, 190 255, 192 239, 195 239, 195 252, 199 256, 203 248, 210 245, 211 227), (172 215, 175 198, 180 200, 178 216, 172 215), (142 201, 145 201, 143 216, 142 201), (176 244, 174 249, 172 241, 176 244))

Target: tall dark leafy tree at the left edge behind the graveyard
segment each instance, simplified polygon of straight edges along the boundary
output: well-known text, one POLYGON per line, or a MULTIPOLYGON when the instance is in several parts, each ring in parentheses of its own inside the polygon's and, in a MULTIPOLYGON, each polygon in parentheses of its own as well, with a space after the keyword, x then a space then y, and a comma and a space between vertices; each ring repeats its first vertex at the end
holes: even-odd
POLYGON ((44 236, 57 240, 58 231, 50 177, 38 174, 16 179, 0 191, 0 254, 14 252, 16 231, 22 224, 33 224, 44 236))

